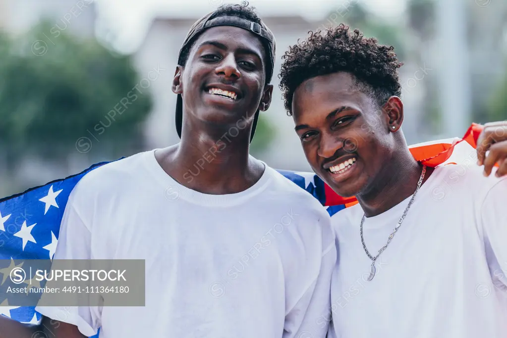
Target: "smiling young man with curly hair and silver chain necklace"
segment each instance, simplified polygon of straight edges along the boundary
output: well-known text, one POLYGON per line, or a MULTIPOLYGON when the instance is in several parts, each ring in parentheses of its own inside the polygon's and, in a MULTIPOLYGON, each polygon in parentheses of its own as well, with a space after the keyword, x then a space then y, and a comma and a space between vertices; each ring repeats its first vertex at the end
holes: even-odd
POLYGON ((345 25, 311 33, 283 59, 280 87, 308 162, 359 202, 332 218, 329 335, 504 337, 507 178, 489 174, 497 160, 505 174, 495 157, 505 144, 490 148, 485 175, 475 163, 416 161, 402 131, 402 63, 345 25))

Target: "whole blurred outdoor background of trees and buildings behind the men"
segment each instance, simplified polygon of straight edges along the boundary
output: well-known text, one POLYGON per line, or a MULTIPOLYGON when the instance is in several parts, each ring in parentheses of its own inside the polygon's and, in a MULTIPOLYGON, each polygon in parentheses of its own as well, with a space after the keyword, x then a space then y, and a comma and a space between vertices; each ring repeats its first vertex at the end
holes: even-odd
MULTIPOLYGON (((0 0, 0 197, 178 142, 171 81, 190 26, 226 0, 0 0)), ((239 1, 237 2, 239 3, 239 1)), ((250 0, 281 55, 346 23, 393 45, 409 144, 507 119, 504 0, 250 0)), ((311 171, 275 85, 252 154, 311 171)))

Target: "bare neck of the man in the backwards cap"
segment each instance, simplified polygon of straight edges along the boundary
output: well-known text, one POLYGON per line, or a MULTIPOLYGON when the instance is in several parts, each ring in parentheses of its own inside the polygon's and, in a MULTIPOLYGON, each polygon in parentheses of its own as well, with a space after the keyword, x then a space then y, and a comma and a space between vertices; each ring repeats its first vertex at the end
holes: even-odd
MULTIPOLYGON (((245 133, 248 134, 248 133, 245 133)), ((249 135, 216 139, 206 134, 183 136, 174 146, 156 152, 164 171, 183 186, 205 194, 244 191, 264 173, 264 165, 249 156, 249 135)))

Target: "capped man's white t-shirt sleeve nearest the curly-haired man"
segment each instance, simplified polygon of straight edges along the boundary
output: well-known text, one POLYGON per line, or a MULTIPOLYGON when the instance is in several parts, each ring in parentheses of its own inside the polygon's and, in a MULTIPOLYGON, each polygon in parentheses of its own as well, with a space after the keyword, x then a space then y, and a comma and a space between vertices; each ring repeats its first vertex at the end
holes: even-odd
POLYGON ((326 224, 326 228, 331 232, 325 235, 332 236, 328 237, 332 241, 323 248, 317 278, 285 316, 283 338, 325 338, 328 333, 329 321, 322 318, 329 317, 331 311, 331 276, 337 254, 334 231, 330 224, 329 227, 326 224))

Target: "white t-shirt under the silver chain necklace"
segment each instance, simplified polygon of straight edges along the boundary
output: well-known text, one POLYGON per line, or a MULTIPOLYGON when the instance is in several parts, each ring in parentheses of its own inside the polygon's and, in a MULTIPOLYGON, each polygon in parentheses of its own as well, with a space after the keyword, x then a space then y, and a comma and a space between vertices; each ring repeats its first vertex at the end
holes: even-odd
MULTIPOLYGON (((356 204, 333 216, 339 252, 331 337, 507 336, 507 178, 482 172, 475 163, 437 167, 377 259, 372 281, 360 238, 363 210, 356 204)), ((372 256, 411 197, 365 219, 372 256)))

